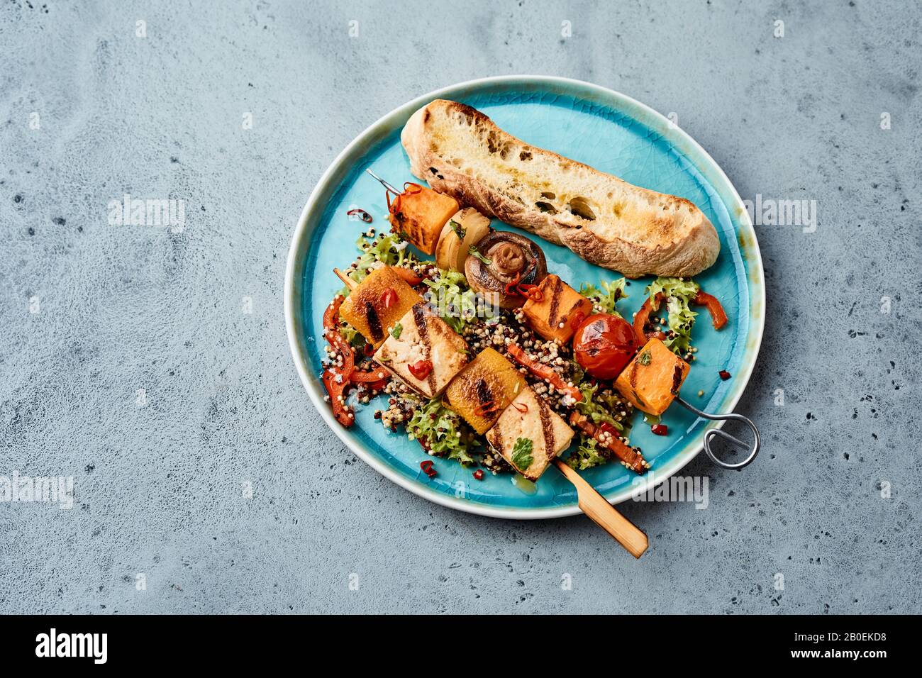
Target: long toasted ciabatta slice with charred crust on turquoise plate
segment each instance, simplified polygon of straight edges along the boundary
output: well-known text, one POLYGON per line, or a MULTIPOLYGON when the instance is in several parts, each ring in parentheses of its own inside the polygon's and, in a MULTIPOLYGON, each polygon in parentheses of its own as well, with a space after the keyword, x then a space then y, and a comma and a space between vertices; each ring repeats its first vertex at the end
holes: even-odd
POLYGON ((400 140, 411 172, 439 193, 629 278, 693 276, 720 252, 688 200, 529 146, 466 104, 432 101, 400 140))

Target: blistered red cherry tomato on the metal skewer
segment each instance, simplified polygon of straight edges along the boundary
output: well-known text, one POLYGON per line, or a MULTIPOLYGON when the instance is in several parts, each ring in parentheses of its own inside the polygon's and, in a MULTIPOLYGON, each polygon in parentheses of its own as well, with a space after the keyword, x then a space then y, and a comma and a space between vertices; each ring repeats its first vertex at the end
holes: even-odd
POLYGON ((597 379, 617 378, 636 351, 633 327, 617 315, 590 315, 573 335, 576 362, 597 379))

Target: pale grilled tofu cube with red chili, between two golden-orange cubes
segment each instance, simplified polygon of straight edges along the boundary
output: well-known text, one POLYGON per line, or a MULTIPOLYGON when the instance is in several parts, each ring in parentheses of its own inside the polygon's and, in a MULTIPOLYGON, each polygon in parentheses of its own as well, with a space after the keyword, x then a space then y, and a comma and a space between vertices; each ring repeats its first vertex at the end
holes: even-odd
POLYGON ((399 320, 374 360, 426 398, 442 395, 470 358, 467 341, 427 303, 417 303, 399 320), (399 336, 395 336, 399 334, 399 336))

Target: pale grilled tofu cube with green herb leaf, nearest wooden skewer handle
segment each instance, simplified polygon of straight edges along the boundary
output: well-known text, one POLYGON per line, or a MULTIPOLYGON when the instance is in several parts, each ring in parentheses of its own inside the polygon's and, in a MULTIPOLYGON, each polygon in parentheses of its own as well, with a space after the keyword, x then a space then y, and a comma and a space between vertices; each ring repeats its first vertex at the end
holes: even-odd
POLYGON ((571 440, 573 429, 531 387, 502 410, 487 432, 487 442, 530 481, 537 481, 571 440))

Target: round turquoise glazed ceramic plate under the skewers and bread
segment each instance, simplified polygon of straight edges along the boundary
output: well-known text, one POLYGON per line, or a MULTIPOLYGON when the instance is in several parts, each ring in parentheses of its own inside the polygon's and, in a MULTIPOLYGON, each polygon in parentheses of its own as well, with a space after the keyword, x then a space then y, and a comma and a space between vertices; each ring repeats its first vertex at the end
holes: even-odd
MULTIPOLYGON (((365 168, 392 184, 418 181, 400 145, 400 130, 409 116, 433 99, 463 101, 489 115, 502 129, 529 144, 554 150, 573 160, 610 172, 632 184, 690 199, 702 208, 720 234, 720 256, 697 276, 703 289, 724 304, 730 323, 716 332, 704 309, 693 338, 699 351, 682 388, 693 404, 712 412, 733 410, 749 381, 762 341, 765 292, 762 258, 751 220, 733 185, 715 161, 691 137, 644 104, 609 89, 556 77, 491 77, 441 89, 410 101, 366 129, 330 166, 313 190, 295 230, 285 280, 285 315, 295 364, 314 406, 339 438, 384 476, 444 506, 495 517, 569 516, 579 512, 573 486, 560 472, 548 470, 537 492, 526 494, 509 474, 476 481, 471 470, 436 459, 438 475, 428 478, 420 461, 428 458, 416 442, 391 434, 373 412, 380 404, 359 408, 356 424, 344 429, 324 402, 320 382, 324 340, 322 315, 341 283, 334 267, 357 256, 354 242, 367 228, 349 220, 351 207, 367 210, 378 230, 387 229, 384 191, 365 168), (733 377, 722 381, 718 372, 733 377), (703 391, 703 396, 696 394, 703 391)), ((494 221, 498 228, 508 228, 494 221)), ((534 237, 534 236, 530 236, 534 237)), ((569 250, 538 241, 548 269, 579 288, 619 276, 585 263, 569 250)), ((628 299, 619 303, 630 318, 644 302, 651 279, 633 280, 628 299)), ((583 472, 611 503, 629 498, 649 483, 662 482, 702 450, 705 425, 673 406, 664 414, 668 436, 654 435, 636 415, 633 445, 643 447, 654 473, 637 476, 621 464, 583 472)))

